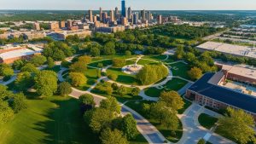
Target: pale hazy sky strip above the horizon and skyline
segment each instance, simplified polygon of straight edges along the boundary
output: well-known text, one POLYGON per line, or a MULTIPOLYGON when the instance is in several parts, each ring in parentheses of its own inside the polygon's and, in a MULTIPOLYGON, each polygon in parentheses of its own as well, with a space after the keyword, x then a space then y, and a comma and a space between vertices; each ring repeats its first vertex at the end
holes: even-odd
MULTIPOLYGON (((0 0, 0 9, 113 9, 120 0, 0 0)), ((132 9, 256 10, 256 0, 126 0, 132 9)))

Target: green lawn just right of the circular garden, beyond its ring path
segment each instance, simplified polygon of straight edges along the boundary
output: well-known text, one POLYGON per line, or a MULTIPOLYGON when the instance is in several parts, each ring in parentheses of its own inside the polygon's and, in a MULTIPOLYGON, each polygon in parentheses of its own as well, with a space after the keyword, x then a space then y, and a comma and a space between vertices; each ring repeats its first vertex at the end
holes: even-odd
POLYGON ((178 76, 181 78, 186 78, 186 79, 190 79, 189 78, 189 66, 184 64, 183 62, 177 62, 175 64, 171 64, 170 66, 172 66, 172 74, 173 76, 178 76))

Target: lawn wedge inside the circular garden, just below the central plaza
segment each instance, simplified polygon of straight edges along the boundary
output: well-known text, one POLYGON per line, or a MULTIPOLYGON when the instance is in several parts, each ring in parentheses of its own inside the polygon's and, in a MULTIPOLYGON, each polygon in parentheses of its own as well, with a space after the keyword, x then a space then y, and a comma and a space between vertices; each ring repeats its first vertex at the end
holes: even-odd
POLYGON ((139 85, 139 82, 135 78, 135 75, 126 74, 125 72, 122 72, 121 68, 113 68, 110 67, 107 70, 108 74, 116 74, 118 76, 117 82, 121 84, 133 84, 133 85, 139 85))

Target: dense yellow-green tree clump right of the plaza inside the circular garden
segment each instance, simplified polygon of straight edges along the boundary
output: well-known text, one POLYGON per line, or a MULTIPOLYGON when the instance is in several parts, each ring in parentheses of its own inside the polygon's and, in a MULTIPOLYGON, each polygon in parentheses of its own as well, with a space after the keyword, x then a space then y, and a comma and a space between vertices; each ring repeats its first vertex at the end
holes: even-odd
POLYGON ((146 65, 143 69, 137 73, 137 79, 143 84, 154 84, 160 81, 162 78, 166 78, 168 70, 166 66, 160 65, 146 65))

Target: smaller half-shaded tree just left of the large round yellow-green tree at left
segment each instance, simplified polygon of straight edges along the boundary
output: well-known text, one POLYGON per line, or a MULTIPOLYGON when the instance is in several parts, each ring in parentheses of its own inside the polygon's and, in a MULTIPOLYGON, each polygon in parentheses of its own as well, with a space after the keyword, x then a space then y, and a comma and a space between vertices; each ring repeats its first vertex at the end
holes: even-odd
POLYGON ((34 81, 30 72, 20 72, 15 80, 15 86, 23 91, 33 86, 34 81))

